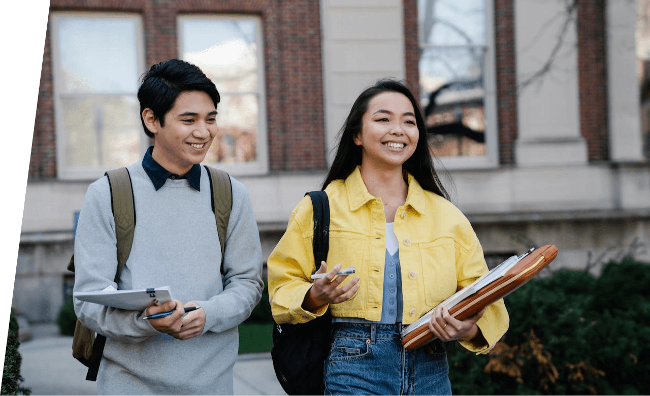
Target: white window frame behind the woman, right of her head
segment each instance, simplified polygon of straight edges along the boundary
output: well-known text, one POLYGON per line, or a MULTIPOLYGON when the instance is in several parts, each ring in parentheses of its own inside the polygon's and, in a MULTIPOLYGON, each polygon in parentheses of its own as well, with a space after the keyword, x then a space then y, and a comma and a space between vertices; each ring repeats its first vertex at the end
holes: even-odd
MULTIPOLYGON (((422 0, 418 0, 419 3, 422 0)), ((496 64, 495 64, 495 28, 494 28, 494 0, 484 0, 485 18, 486 18, 486 44, 484 51, 484 118, 485 118, 485 155, 480 157, 463 156, 463 157, 436 157, 445 168, 448 170, 471 170, 471 169, 489 169, 497 168, 499 166, 499 131, 497 120, 497 79, 496 79, 496 64)), ((431 44, 424 44, 422 41, 422 18, 418 17, 418 49, 422 54, 424 49, 441 48, 466 48, 477 47, 474 46, 435 46, 431 44)), ((418 59, 418 68, 419 68, 418 59)), ((418 81, 419 83, 419 81, 418 81)), ((422 87, 420 87, 422 89, 422 87)))

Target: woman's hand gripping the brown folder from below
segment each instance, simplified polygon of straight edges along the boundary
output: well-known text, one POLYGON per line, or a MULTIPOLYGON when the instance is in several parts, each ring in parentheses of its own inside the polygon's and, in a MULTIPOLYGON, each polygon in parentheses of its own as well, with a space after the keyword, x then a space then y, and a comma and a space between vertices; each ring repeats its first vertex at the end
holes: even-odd
POLYGON ((434 308, 434 313, 429 321, 429 330, 441 341, 460 339, 461 341, 471 341, 476 345, 483 345, 486 341, 476 325, 476 321, 481 319, 485 311, 486 309, 483 308, 474 316, 464 321, 458 321, 450 315, 447 308, 439 305, 434 308))

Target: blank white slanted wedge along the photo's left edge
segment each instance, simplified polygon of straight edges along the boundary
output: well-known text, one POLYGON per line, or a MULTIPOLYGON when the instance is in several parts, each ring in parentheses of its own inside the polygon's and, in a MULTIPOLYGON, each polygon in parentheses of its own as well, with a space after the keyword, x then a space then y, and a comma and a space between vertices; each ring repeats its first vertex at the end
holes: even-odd
POLYGON ((49 1, 5 1, 0 11, 0 350, 5 361, 6 332, 16 278, 18 242, 25 205, 36 98, 43 60, 49 1))

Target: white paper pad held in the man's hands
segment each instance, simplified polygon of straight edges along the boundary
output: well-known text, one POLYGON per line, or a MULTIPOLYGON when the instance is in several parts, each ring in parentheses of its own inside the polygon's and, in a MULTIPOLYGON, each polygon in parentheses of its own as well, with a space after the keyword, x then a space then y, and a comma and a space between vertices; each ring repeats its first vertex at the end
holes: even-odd
POLYGON ((75 292, 72 295, 82 301, 131 311, 144 311, 153 304, 164 304, 173 300, 169 286, 140 290, 116 290, 110 285, 102 291, 75 292))

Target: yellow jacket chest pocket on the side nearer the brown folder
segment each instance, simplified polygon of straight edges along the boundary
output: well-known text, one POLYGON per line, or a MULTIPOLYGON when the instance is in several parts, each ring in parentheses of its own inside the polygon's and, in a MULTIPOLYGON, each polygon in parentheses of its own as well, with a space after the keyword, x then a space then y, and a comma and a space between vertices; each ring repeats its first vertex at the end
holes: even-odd
POLYGON ((430 307, 456 293, 456 249, 451 238, 420 244, 424 301, 430 307))

